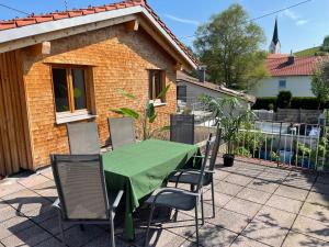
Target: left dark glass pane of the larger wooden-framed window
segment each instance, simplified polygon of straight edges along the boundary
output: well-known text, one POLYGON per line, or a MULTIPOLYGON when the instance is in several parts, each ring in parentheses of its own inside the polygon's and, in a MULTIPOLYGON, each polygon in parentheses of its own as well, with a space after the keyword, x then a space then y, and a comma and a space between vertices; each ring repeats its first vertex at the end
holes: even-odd
POLYGON ((53 68, 53 82, 55 91, 56 112, 69 111, 70 108, 68 101, 66 69, 53 68))

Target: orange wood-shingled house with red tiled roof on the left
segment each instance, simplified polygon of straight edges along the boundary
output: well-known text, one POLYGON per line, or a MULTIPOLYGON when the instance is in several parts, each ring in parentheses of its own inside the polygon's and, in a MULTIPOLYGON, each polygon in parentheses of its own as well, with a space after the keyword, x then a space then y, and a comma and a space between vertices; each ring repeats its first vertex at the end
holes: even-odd
MULTIPOLYGON (((102 145, 111 109, 154 100, 196 59, 145 0, 0 22, 0 175, 36 170, 69 151, 66 123, 95 121, 102 145)), ((175 112, 177 89, 157 102, 175 112)), ((143 103, 144 105, 144 103, 143 103)), ((161 113, 161 114, 160 114, 161 113)))

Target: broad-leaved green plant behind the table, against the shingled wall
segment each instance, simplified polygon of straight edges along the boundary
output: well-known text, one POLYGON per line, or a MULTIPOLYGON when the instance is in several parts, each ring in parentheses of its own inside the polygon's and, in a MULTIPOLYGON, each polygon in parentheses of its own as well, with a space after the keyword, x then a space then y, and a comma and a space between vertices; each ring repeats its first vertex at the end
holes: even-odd
MULTIPOLYGON (((162 91, 159 93, 159 96, 157 97, 157 99, 163 99, 169 88, 170 85, 164 87, 162 91)), ((168 130, 168 126, 163 126, 155 130, 150 127, 150 125, 156 121, 158 116, 154 102, 147 100, 145 104, 140 105, 140 100, 137 99, 134 94, 123 89, 118 89, 118 92, 122 96, 133 100, 135 105, 137 105, 137 108, 136 110, 131 108, 120 108, 120 109, 112 109, 111 111, 121 114, 123 116, 133 117, 134 120, 139 121, 141 125, 143 139, 149 139, 155 135, 155 133, 168 130)))

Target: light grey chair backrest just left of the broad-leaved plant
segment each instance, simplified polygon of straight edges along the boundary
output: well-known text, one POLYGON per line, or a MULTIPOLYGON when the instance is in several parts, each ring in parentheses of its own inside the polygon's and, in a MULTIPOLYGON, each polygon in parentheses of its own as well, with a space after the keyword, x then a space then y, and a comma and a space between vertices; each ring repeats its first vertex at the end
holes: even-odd
POLYGON ((136 143, 134 120, 132 117, 109 119, 112 148, 136 143))

